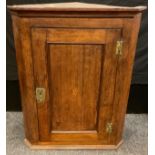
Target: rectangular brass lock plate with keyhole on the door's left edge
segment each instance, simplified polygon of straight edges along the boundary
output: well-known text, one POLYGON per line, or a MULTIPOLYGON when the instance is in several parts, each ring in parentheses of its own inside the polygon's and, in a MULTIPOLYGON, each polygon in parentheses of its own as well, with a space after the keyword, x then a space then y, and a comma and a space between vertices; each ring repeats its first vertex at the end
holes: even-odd
POLYGON ((37 103, 44 103, 45 101, 45 88, 36 88, 37 103))

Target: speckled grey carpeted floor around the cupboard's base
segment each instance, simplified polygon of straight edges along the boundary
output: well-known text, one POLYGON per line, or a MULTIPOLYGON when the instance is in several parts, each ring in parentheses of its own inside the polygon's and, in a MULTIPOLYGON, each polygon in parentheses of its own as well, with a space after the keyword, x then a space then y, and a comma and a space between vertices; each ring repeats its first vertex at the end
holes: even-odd
POLYGON ((128 114, 124 143, 118 150, 30 150, 23 142, 20 112, 7 112, 7 155, 147 155, 147 115, 128 114))

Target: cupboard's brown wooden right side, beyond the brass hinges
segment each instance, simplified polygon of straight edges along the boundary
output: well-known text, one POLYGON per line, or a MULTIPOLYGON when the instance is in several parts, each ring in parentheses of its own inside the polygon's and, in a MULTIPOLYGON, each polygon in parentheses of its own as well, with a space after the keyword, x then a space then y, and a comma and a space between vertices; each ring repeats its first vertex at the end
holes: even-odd
POLYGON ((116 144, 118 144, 122 139, 140 19, 141 14, 137 14, 132 21, 124 19, 124 28, 122 33, 124 42, 122 55, 119 57, 118 61, 113 107, 113 121, 114 127, 116 128, 116 137, 113 139, 113 142, 116 144))

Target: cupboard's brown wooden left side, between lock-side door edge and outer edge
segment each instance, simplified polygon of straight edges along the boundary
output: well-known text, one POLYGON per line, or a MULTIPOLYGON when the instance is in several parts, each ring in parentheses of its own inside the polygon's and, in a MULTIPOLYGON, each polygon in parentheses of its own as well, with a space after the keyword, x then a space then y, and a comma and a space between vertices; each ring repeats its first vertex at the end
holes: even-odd
POLYGON ((25 134, 29 141, 36 142, 38 141, 38 120, 33 95, 34 86, 29 27, 19 17, 12 15, 12 20, 25 134))

